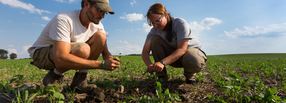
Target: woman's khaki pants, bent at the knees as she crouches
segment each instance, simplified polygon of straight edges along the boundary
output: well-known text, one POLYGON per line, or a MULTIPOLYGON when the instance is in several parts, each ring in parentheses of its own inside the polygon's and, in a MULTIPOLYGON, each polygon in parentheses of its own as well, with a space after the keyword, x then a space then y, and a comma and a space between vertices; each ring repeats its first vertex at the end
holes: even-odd
MULTIPOLYGON (((152 39, 151 51, 155 62, 163 60, 165 57, 171 55, 177 48, 172 48, 161 37, 157 36, 152 39)), ((170 66, 174 68, 184 68, 184 76, 190 78, 196 73, 201 72, 207 62, 206 54, 197 48, 188 48, 185 54, 176 60, 170 66)), ((156 73, 156 76, 167 76, 166 67, 162 72, 156 73)))

